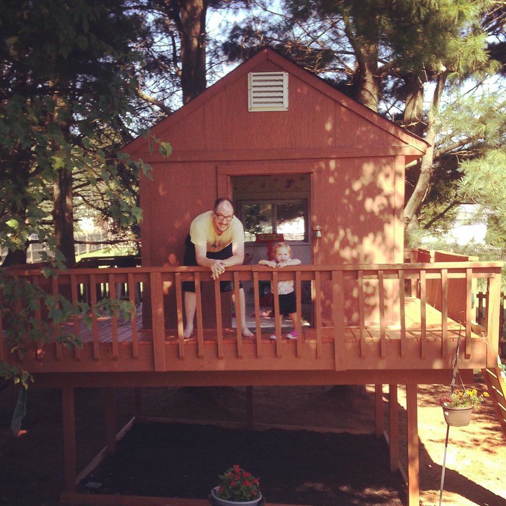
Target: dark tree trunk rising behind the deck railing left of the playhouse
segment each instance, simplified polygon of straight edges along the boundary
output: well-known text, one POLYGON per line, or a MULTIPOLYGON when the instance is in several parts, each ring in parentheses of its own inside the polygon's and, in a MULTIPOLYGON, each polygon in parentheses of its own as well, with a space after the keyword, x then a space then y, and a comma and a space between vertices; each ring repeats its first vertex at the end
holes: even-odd
POLYGON ((53 204, 56 247, 65 257, 67 267, 72 267, 75 264, 72 173, 67 168, 60 170, 54 182, 53 204))

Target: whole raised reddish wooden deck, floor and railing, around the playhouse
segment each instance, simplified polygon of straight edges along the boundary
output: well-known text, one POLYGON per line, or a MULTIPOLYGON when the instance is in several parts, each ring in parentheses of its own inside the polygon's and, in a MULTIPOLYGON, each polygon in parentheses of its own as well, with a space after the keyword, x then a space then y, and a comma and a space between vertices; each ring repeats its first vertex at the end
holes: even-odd
MULTIPOLYGON (((240 323, 238 328, 223 323, 219 283, 210 280, 208 269, 75 269, 51 281, 33 271, 16 274, 52 293, 71 294, 75 305, 77 294, 85 291, 90 303, 97 304, 100 286, 105 287, 105 295, 99 297, 112 301, 119 297, 118 287, 123 285, 122 293, 136 308, 128 321, 94 311, 91 329, 77 316, 64 326, 53 324, 52 342, 29 344, 24 355, 11 354, 4 342, 0 355, 32 373, 450 370, 459 335, 461 368, 484 368, 495 364, 497 356, 497 340, 490 337, 497 335, 497 263, 297 266, 279 272, 263 266, 232 268, 223 277, 235 282, 235 300, 239 300, 238 281, 251 282, 254 291, 253 338, 242 336, 240 323), (479 277, 486 278, 489 287, 484 327, 472 322, 471 289, 479 277), (184 339, 182 281, 189 279, 197 281, 197 314, 192 338, 184 339), (313 287, 312 325, 299 325, 296 340, 270 340, 272 331, 263 333, 259 281, 271 282, 276 292, 278 280, 283 279, 294 281, 299 314, 301 283, 309 281, 313 287), (213 328, 205 326, 203 305, 215 302, 204 300, 198 281, 211 287, 214 284, 218 323, 213 328), (144 302, 136 306, 141 284, 144 302), (172 286, 177 296, 174 302, 165 298, 165 285, 172 286), (399 297, 408 285, 412 296, 399 297), (350 315, 357 319, 352 325, 350 315), (146 328, 147 321, 151 321, 151 328, 146 328), (165 328, 171 321, 176 328, 165 328), (62 332, 79 335, 82 348, 59 344, 62 332)), ((274 312, 279 315, 276 293, 274 312)), ((44 308, 39 308, 34 316, 40 320, 44 314, 44 308)), ((279 319, 272 320, 275 333, 285 336, 279 319)))

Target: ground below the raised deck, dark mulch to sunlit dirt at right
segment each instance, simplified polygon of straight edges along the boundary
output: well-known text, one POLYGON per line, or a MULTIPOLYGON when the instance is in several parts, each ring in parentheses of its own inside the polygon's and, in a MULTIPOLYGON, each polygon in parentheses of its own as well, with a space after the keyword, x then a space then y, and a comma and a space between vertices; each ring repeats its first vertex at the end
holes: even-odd
MULTIPOLYGON (((442 392, 442 388, 419 388, 424 506, 438 502, 446 425, 436 402, 442 392)), ((0 392, 0 504, 55 506, 63 472, 60 394, 29 392, 27 433, 20 437, 8 429, 15 401, 15 388, 0 392)), ((146 416, 222 422, 246 417, 241 388, 144 389, 143 401, 146 416)), ((116 402, 120 427, 132 416, 133 392, 117 390, 116 402)), ((402 388, 399 402, 405 408, 402 388)), ((79 470, 105 443, 103 405, 101 391, 76 391, 79 470)), ((372 386, 256 388, 255 415, 259 424, 351 429, 354 434, 141 424, 81 487, 86 489, 85 483, 96 481, 102 483, 99 492, 204 498, 218 474, 240 463, 260 476, 262 490, 272 502, 405 504, 405 487, 399 475, 389 472, 386 444, 370 435, 374 428, 372 386)), ((401 409, 401 442, 405 425, 401 409)), ((404 446, 401 461, 405 466, 404 446)), ((505 461, 506 446, 488 403, 474 413, 469 427, 450 431, 443 503, 506 505, 505 461)))

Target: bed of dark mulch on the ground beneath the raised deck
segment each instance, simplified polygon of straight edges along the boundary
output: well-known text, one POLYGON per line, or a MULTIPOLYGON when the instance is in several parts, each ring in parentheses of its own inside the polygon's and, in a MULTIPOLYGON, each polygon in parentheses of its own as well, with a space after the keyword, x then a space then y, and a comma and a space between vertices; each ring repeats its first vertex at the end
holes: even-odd
POLYGON ((134 427, 80 489, 92 481, 100 493, 205 498, 236 463, 260 477, 268 502, 401 506, 404 495, 372 435, 156 423, 134 427))

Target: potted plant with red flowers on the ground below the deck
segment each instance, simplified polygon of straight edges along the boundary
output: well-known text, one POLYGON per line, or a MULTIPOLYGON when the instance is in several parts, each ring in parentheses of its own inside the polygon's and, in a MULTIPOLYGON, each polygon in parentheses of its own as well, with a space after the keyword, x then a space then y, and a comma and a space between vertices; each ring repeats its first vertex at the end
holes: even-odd
POLYGON ((213 504, 218 506, 256 506, 262 500, 260 480, 235 465, 219 476, 220 485, 211 490, 213 504))

